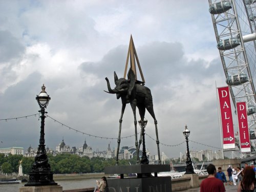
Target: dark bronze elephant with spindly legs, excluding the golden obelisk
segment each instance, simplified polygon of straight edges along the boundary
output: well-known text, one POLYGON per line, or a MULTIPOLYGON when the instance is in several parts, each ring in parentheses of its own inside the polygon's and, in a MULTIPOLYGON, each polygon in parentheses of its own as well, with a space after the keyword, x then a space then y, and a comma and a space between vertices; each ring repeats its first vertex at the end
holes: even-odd
MULTIPOLYGON (((117 99, 121 98, 122 100, 122 110, 121 110, 121 117, 119 119, 119 135, 118 135, 118 145, 117 145, 117 158, 116 164, 118 164, 118 153, 119 153, 119 146, 120 146, 120 135, 121 135, 121 124, 122 124, 122 117, 125 110, 125 106, 127 103, 131 104, 133 115, 134 115, 134 125, 135 125, 135 146, 137 151, 137 160, 139 163, 139 147, 138 147, 138 139, 137 139, 137 120, 136 120, 136 106, 139 110, 140 119, 143 123, 145 111, 147 110, 154 119, 155 127, 156 127, 156 142, 158 147, 158 157, 159 163, 160 161, 160 152, 159 152, 159 140, 158 140, 158 131, 157 131, 157 119, 155 117, 154 108, 153 108, 153 99, 150 89, 141 84, 136 82, 134 71, 130 68, 127 79, 125 78, 118 78, 116 72, 114 72, 114 80, 116 87, 111 89, 109 79, 105 78, 107 85, 108 85, 108 92, 111 94, 116 94, 117 99)), ((105 91, 106 92, 106 91, 105 91)), ((140 137, 141 138, 141 137, 140 137)), ((140 139, 141 143, 141 139, 140 139)), ((146 163, 145 163, 146 164, 146 163)))

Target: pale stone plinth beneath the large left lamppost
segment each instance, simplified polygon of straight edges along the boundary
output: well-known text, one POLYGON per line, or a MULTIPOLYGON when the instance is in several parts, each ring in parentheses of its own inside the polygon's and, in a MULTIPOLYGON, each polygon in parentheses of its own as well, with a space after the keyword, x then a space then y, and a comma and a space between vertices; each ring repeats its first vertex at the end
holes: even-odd
POLYGON ((62 192, 60 185, 27 186, 19 188, 19 192, 62 192))

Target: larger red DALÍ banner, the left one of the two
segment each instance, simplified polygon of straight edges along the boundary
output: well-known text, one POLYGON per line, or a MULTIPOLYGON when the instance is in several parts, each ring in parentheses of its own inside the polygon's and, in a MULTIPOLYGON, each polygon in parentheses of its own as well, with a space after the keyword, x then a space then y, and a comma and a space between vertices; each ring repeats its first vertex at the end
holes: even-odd
POLYGON ((218 88, 220 112, 221 112, 221 124, 222 124, 222 136, 223 136, 223 149, 234 148, 234 128, 232 111, 230 104, 229 88, 218 88))

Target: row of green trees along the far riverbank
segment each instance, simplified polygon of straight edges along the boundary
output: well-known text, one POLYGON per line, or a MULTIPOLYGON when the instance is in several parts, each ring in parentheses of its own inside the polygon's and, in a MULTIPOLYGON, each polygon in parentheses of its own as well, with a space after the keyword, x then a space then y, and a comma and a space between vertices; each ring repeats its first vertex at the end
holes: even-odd
MULTIPOLYGON (((72 174, 72 173, 101 173, 106 166, 116 164, 116 159, 105 159, 101 157, 79 157, 73 154, 58 154, 53 156, 47 154, 48 163, 54 174, 72 174)), ((23 155, 0 154, 0 167, 3 174, 18 174, 19 161, 22 160, 23 174, 31 172, 34 157, 24 157, 23 155)), ((118 161, 119 165, 136 164, 137 157, 133 159, 118 161)))

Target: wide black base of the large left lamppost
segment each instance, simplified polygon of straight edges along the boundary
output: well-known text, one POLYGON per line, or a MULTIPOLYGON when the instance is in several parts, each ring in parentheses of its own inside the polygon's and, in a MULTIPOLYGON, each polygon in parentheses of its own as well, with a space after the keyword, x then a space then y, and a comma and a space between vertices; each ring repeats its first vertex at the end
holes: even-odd
POLYGON ((24 186, 57 185, 53 181, 53 172, 32 172, 29 174, 29 181, 24 186))

